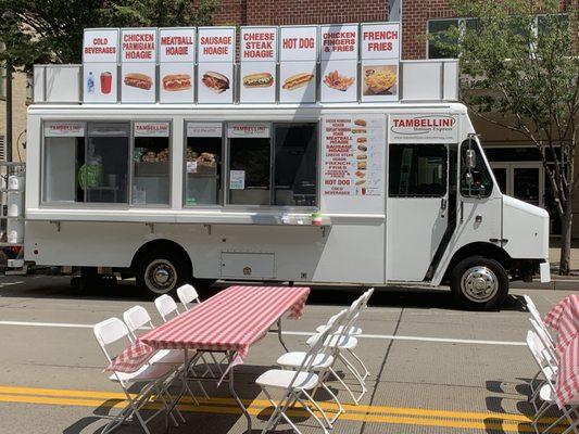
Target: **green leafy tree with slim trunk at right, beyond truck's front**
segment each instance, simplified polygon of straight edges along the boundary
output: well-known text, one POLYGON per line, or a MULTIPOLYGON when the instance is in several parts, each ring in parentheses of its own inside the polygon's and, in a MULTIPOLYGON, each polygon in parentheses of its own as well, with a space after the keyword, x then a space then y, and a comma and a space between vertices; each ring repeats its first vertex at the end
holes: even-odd
POLYGON ((450 0, 463 27, 432 35, 460 58, 461 100, 473 113, 523 135, 540 151, 562 220, 559 272, 569 272, 579 126, 577 0, 450 0), (575 4, 575 8, 572 8, 575 4))

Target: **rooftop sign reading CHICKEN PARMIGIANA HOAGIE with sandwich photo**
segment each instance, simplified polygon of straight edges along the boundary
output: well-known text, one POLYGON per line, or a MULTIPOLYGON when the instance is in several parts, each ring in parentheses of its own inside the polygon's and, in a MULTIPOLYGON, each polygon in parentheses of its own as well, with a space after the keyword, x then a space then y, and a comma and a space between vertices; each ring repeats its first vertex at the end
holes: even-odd
POLYGON ((156 28, 121 30, 121 101, 156 100, 156 28))

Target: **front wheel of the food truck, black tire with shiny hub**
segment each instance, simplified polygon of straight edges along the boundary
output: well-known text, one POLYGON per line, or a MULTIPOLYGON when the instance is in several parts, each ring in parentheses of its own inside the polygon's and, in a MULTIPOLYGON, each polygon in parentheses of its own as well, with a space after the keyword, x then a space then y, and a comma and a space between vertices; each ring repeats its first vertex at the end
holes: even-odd
POLYGON ((508 276, 498 260, 471 256, 461 260, 451 275, 455 302, 469 310, 492 310, 508 295, 508 276))

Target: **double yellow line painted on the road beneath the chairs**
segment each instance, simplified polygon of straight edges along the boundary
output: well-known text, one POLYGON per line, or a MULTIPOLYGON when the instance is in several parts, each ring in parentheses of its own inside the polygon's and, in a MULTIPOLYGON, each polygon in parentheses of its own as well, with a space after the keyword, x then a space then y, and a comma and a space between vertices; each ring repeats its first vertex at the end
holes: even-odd
MULTIPOLYGON (((110 407, 123 408, 123 393, 53 390, 36 387, 0 386, 0 401, 23 404, 46 404, 60 406, 110 407)), ((190 397, 184 397, 179 409, 190 412, 240 414, 240 409, 231 398, 199 398, 200 406, 193 406, 190 397)), ((270 403, 264 399, 244 399, 250 414, 267 414, 270 403)), ((149 408, 160 408, 151 403, 149 408)), ((323 403, 327 410, 336 409, 335 405, 323 403)), ((386 407, 386 406, 344 406, 347 412, 342 420, 365 421, 375 423, 414 424, 425 426, 446 426, 471 430, 503 430, 512 432, 533 432, 531 419, 524 414, 496 412, 462 412, 446 410, 428 410, 419 408, 386 407)), ((291 410, 290 414, 306 416, 303 410, 291 410)), ((553 418, 541 419, 541 424, 553 422, 553 418)), ((556 430, 555 430, 556 432, 556 430)))

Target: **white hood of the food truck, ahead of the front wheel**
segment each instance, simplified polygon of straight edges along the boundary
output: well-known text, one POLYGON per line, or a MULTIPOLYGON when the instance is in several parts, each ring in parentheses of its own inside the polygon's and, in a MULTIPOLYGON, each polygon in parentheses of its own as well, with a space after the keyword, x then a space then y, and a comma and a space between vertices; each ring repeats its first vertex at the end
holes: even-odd
POLYGON ((549 213, 503 195, 503 239, 512 258, 549 260, 549 213))

